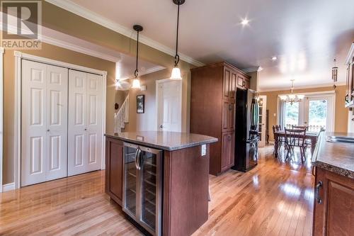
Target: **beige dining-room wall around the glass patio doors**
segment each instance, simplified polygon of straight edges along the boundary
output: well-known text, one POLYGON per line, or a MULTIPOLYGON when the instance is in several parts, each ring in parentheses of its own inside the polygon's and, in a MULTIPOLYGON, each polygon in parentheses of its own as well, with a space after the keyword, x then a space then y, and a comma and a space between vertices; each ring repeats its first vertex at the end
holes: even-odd
MULTIPOLYGON (((321 87, 312 89, 296 89, 294 93, 309 93, 316 91, 333 91, 332 87, 321 87)), ((346 132, 348 130, 348 108, 344 107, 344 97, 346 96, 346 86, 338 86, 336 88, 336 114, 334 131, 346 132)), ((290 91, 268 91, 261 92, 260 95, 267 96, 267 110, 269 110, 269 140, 273 140, 272 125, 277 124, 278 94, 289 94, 290 91)))

